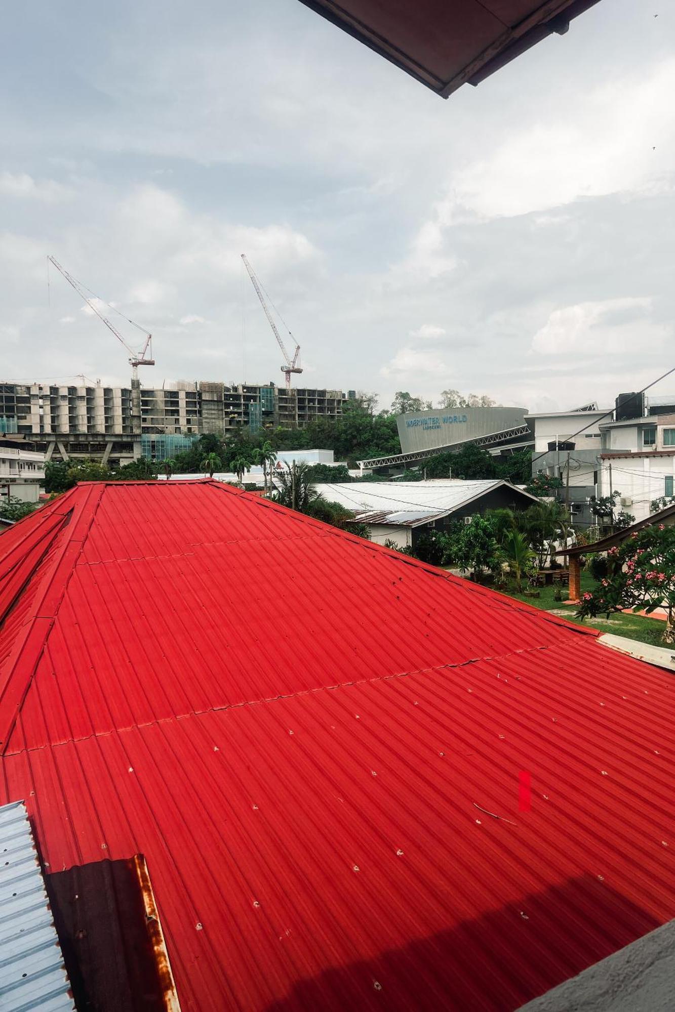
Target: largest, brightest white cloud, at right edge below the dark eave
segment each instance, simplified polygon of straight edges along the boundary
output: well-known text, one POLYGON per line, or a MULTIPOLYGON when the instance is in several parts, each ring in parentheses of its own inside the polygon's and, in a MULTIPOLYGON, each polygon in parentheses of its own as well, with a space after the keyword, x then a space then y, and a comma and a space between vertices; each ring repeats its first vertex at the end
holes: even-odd
MULTIPOLYGON (((439 205, 440 222, 455 224, 467 208, 491 219, 579 197, 651 191, 655 176, 672 171, 675 160, 674 93, 672 59, 590 94, 572 91, 547 121, 511 131, 496 150, 457 169, 439 205)), ((660 178, 659 185, 669 184, 660 178)))

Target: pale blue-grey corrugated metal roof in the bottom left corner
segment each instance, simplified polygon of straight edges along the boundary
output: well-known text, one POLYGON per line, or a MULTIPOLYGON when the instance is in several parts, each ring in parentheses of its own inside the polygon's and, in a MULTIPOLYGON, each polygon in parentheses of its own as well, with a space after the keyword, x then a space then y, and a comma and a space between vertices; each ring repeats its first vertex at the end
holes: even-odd
POLYGON ((0 807, 0 1009, 75 1009, 22 802, 0 807))

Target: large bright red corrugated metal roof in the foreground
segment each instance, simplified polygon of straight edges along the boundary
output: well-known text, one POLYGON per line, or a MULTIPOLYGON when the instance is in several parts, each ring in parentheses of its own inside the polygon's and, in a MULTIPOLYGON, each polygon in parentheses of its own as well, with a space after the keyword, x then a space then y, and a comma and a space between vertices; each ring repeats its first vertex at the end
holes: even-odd
POLYGON ((78 487, 4 589, 0 803, 145 854, 183 1010, 515 1009, 675 916, 675 682, 562 619, 211 482, 78 487))

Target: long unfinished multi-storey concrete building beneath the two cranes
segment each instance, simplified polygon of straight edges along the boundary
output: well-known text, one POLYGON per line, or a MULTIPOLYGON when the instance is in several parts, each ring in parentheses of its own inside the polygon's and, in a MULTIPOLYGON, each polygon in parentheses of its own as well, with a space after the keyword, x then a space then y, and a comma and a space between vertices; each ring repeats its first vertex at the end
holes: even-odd
POLYGON ((48 460, 94 457, 117 467, 148 451, 166 456, 166 439, 160 437, 181 437, 180 446, 171 447, 175 452, 183 448, 183 438, 186 443, 207 432, 228 435, 277 425, 303 428, 316 418, 339 418, 348 400, 342 391, 287 391, 271 383, 142 387, 140 406, 136 393, 134 397, 131 386, 98 383, 0 384, 0 432, 29 436, 48 460))

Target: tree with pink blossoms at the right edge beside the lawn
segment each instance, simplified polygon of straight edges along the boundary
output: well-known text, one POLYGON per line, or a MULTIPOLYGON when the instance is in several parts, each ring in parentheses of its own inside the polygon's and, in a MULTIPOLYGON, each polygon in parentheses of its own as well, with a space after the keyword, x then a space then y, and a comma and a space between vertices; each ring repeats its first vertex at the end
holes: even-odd
POLYGON ((624 608, 666 610, 663 642, 675 643, 675 527, 652 524, 607 553, 611 572, 582 595, 578 614, 594 617, 624 608))

